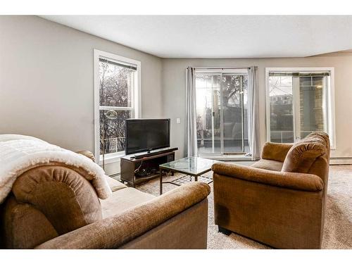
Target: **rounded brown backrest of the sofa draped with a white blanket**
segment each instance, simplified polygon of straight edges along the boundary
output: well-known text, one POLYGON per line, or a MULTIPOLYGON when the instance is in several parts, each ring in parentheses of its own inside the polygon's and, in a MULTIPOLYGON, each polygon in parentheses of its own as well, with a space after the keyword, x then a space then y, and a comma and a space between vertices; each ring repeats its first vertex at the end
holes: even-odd
POLYGON ((102 219, 96 191, 75 168, 42 165, 24 172, 1 206, 5 248, 30 249, 102 219))

